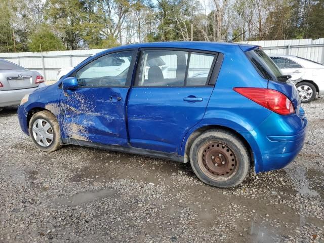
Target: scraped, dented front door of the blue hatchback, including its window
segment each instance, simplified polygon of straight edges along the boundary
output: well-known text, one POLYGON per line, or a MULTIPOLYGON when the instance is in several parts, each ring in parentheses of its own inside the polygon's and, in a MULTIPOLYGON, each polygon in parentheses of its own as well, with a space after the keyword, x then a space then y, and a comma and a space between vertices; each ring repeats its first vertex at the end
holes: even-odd
POLYGON ((62 138, 127 146, 125 105, 136 55, 109 53, 72 74, 78 87, 61 95, 62 138))

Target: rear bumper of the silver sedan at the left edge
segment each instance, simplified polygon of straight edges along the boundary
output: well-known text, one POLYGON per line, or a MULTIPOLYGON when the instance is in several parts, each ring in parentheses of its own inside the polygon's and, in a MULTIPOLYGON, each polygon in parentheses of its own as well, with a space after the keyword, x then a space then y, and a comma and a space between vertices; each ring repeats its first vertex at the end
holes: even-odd
POLYGON ((38 88, 45 87, 44 83, 36 88, 20 89, 20 90, 0 90, 0 107, 19 105, 21 99, 26 95, 34 92, 38 88))

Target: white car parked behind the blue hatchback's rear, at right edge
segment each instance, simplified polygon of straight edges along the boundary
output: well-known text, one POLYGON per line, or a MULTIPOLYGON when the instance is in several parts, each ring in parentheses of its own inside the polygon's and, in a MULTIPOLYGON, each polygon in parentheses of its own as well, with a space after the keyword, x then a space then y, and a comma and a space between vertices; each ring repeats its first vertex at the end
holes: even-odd
POLYGON ((291 75, 303 103, 324 94, 324 65, 290 55, 269 55, 283 74, 291 75))

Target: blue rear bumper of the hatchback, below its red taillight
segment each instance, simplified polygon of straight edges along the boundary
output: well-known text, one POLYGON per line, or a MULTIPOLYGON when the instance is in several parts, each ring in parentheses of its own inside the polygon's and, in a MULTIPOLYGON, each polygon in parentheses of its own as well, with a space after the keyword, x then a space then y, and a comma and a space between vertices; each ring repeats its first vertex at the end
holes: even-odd
POLYGON ((255 171, 271 171, 287 166, 301 151, 307 133, 304 115, 271 114, 261 126, 241 133, 250 143, 255 171))

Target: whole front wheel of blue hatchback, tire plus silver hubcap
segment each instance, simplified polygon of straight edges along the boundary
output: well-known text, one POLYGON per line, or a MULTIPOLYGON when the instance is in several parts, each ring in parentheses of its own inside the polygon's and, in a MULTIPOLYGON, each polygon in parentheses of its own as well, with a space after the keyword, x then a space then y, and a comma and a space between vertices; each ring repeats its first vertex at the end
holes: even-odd
POLYGON ((28 131, 35 146, 43 151, 53 152, 62 147, 57 119, 47 110, 31 117, 28 131))

